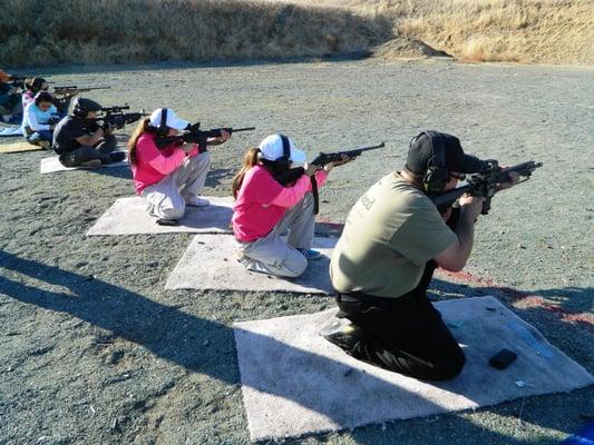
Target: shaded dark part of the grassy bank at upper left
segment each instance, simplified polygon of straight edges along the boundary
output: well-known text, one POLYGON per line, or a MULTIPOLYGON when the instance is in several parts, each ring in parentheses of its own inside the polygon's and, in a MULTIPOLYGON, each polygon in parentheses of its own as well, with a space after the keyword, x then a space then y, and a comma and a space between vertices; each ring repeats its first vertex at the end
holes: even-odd
POLYGON ((3 0, 0 66, 322 57, 364 52, 391 23, 238 0, 3 0))

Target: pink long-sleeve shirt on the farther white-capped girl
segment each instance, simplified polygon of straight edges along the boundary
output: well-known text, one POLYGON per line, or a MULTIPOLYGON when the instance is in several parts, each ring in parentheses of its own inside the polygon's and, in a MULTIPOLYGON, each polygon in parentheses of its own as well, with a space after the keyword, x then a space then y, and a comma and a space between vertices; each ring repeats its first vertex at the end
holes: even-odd
POLYGON ((136 142, 136 164, 130 162, 134 188, 140 195, 143 190, 167 175, 173 174, 184 162, 186 157, 198 154, 195 146, 187 155, 175 145, 165 148, 157 148, 155 144, 156 135, 145 132, 136 142))

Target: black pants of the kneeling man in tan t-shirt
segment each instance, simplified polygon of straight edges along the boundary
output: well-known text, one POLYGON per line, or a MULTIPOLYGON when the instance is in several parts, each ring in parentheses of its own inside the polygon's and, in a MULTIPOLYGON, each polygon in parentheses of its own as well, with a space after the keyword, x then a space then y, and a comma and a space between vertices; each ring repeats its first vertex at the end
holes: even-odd
MULTIPOLYGON (((458 215, 448 226, 455 227, 458 215)), ((338 294, 339 317, 361 328, 362 338, 350 350, 354 358, 407 376, 445 380, 465 364, 458 343, 427 298, 437 265, 429 260, 419 285, 398 298, 338 294)))

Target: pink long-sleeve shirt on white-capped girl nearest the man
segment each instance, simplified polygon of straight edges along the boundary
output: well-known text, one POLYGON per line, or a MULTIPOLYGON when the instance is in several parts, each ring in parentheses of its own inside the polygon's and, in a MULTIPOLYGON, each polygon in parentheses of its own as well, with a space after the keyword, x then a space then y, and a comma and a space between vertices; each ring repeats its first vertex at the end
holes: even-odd
MULTIPOLYGON (((318 186, 325 182, 328 172, 315 174, 318 186)), ((291 187, 279 184, 263 166, 251 168, 243 178, 233 206, 233 233, 242 243, 252 243, 266 236, 282 219, 285 211, 311 191, 310 177, 301 176, 291 187)))

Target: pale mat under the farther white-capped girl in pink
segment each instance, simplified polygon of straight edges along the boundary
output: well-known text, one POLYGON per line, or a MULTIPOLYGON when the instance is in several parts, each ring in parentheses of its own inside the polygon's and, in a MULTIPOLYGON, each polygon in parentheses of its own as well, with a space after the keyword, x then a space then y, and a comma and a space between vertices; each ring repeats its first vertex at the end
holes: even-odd
MULTIPOLYGON (((146 212, 146 204, 140 197, 120 198, 101 215, 87 235, 138 235, 138 234, 231 234, 228 225, 233 210, 233 198, 210 197, 206 207, 186 207, 186 212, 177 226, 159 226, 157 218, 146 212)), ((230 237, 233 238, 233 237, 230 237)))

